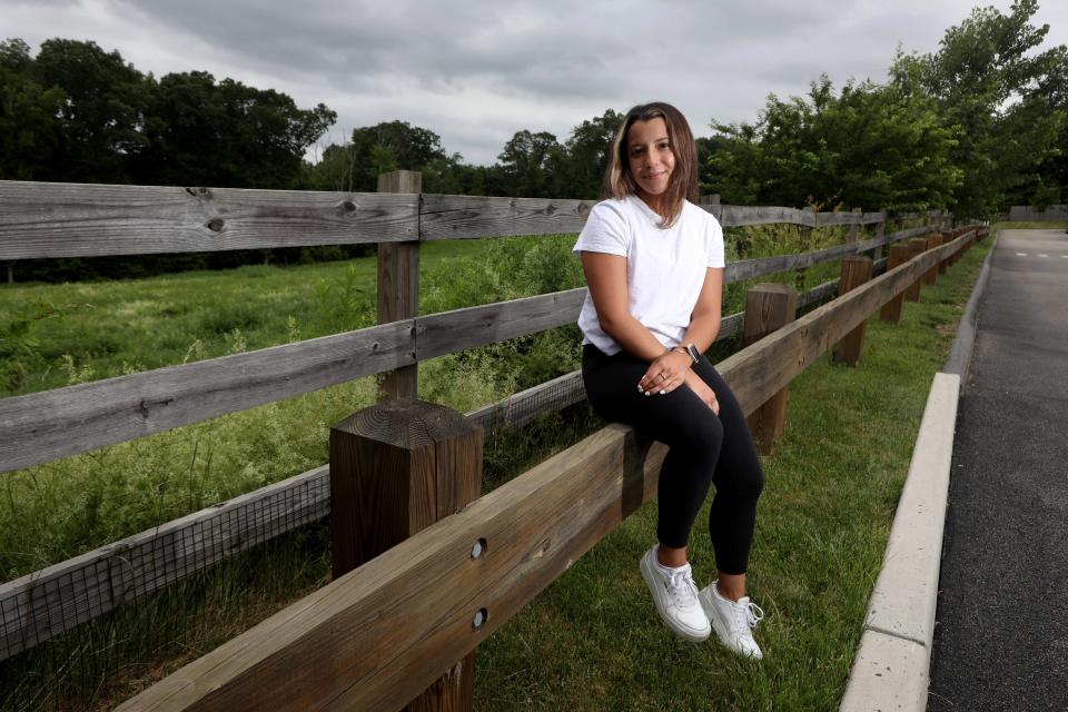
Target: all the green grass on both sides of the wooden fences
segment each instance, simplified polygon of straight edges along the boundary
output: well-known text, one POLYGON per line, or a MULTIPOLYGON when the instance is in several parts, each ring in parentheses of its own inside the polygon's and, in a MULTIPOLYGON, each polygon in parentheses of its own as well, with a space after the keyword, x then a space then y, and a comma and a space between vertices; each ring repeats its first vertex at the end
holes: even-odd
MULTIPOLYGON (((789 233, 756 235, 760 254, 794 251, 789 233)), ((576 286, 573 239, 427 245, 421 312, 576 286)), ((860 368, 821 360, 791 387, 787 442, 765 462, 754 550, 753 592, 771 613, 761 641, 779 651, 759 680, 736 684, 729 674, 743 670, 736 662, 711 646, 678 643, 654 623, 634 566, 653 525, 645 507, 479 649, 478 708, 672 709, 675 693, 693 709, 834 706, 829 701, 848 673, 930 376, 981 251, 926 291, 924 304, 909 305, 901 326, 871 324, 860 368), (812 597, 821 593, 820 604, 812 597), (664 681, 654 683, 661 673, 664 681), (794 706, 779 706, 787 702, 794 706)), ((803 286, 835 270, 809 270, 803 286)), ((729 289, 725 312, 739 308, 743 289, 729 289)), ((373 295, 372 260, 0 288, 6 314, 9 305, 29 317, 57 314, 29 319, 32 338, 17 353, 21 370, 8 374, 18 383, 6 394, 358 328, 373 323, 373 295)), ((565 327, 435 359, 421 365, 421 394, 475 407, 574 369, 575 344, 574 328, 565 327)), ((0 571, 11 578, 318 465, 328 425, 370 403, 373 392, 364 379, 4 475, 0 571)), ((599 426, 581 405, 492 438, 487 487, 599 426)), ((327 540, 322 526, 307 527, 0 664, 0 706, 109 709, 322 585, 327 540)), ((693 547, 703 576, 711 573, 706 541, 698 533, 693 547)))

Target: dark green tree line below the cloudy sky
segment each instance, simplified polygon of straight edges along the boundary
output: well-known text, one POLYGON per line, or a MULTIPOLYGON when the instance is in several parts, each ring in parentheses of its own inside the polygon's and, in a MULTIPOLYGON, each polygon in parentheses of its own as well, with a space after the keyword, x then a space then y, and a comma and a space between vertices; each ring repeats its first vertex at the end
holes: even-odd
MULTIPOLYGON (((886 81, 835 89, 823 76, 804 96, 771 95, 752 122, 713 119, 711 135, 698 138, 702 192, 735 205, 942 208, 961 217, 1059 202, 1068 185, 1068 49, 1038 51, 1049 28, 1034 24, 1037 10, 1037 0, 1017 0, 1007 13, 976 8, 934 52, 899 50, 886 81)), ((428 128, 384 121, 309 162, 309 147, 336 120, 323 103, 301 109, 285 93, 202 71, 156 79, 93 42, 52 39, 36 57, 21 40, 0 43, 0 178, 9 180, 374 191, 379 174, 406 168, 423 174, 427 192, 593 199, 622 118, 607 109, 563 141, 522 129, 491 166, 448 154, 428 128)), ((250 258, 137 261, 154 271, 176 259, 217 267, 250 258)))

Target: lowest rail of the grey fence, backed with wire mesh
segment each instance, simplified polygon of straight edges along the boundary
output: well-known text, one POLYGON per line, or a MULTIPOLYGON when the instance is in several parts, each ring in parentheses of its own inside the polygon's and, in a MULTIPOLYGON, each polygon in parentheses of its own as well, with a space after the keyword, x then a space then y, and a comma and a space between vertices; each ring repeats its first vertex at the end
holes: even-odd
MULTIPOLYGON (((819 285, 799 306, 837 288, 838 280, 819 285)), ((744 312, 724 317, 716 340, 738 334, 744 318, 744 312)), ((466 415, 492 433, 585 397, 575 370, 466 415)), ((0 584, 0 661, 329 513, 329 467, 323 465, 0 584)))

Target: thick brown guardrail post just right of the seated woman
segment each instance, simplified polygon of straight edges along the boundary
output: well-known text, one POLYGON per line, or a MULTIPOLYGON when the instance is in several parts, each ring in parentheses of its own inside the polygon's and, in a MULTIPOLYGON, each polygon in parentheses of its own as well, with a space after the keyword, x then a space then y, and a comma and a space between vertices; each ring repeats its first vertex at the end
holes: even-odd
MULTIPOLYGON (((798 290, 790 285, 759 284, 745 293, 745 324, 742 343, 759 342, 798 316, 798 290)), ((763 455, 773 455, 782 438, 787 418, 787 388, 783 387, 749 416, 749 431, 763 455)))

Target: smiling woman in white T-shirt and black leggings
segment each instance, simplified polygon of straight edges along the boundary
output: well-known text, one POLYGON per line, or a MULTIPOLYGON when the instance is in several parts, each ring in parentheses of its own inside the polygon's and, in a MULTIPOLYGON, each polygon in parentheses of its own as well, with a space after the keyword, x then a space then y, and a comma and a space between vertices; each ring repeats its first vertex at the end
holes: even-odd
POLYGON ((674 107, 631 109, 574 250, 590 294, 578 317, 594 409, 669 446, 660 472, 659 544, 639 568, 660 616, 703 641, 760 659, 763 612, 745 571, 763 473, 744 415, 703 356, 720 328, 723 230, 696 207, 696 148, 674 107), (698 592, 686 544, 711 484, 709 532, 719 576, 698 592), (710 625, 711 623, 711 625, 710 625))

